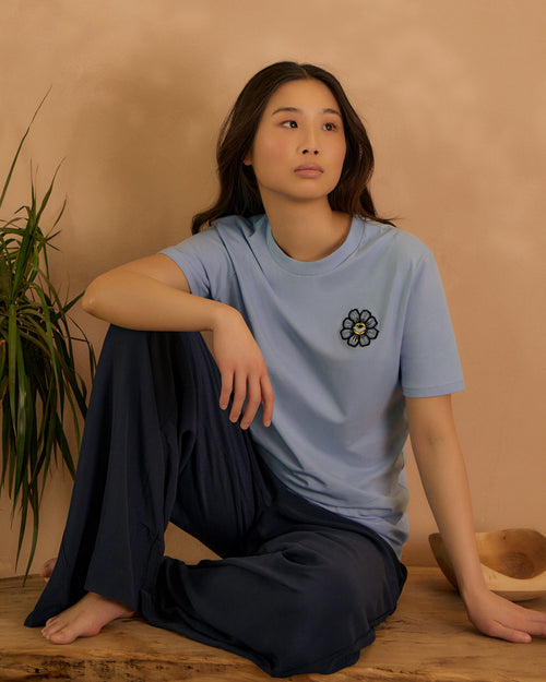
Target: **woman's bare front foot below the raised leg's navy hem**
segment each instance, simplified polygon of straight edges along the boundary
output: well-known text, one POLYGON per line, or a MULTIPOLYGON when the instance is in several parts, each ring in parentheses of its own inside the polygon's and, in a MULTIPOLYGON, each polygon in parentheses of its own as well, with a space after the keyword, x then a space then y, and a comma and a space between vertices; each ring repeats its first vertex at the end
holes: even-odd
POLYGON ((78 637, 92 637, 117 618, 131 618, 134 611, 119 601, 87 593, 78 603, 50 618, 43 636, 52 644, 70 644, 78 637))

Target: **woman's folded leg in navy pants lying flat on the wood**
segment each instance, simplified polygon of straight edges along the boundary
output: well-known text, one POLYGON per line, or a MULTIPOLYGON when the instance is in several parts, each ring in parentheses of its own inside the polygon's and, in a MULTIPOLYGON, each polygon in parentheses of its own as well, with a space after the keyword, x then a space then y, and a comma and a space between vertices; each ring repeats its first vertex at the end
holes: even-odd
POLYGON ((295 496, 282 502, 263 511, 246 557, 193 566, 166 558, 143 590, 146 620, 273 677, 355 663, 394 611, 405 570, 367 528, 295 496))

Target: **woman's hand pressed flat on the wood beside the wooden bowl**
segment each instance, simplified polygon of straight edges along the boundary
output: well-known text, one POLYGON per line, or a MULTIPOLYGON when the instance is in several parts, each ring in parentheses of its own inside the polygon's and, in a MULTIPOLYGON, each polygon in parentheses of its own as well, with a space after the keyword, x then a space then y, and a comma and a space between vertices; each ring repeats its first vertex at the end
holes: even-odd
POLYGON ((508 642, 531 642, 546 636, 546 613, 513 603, 487 588, 463 596, 471 622, 486 635, 508 642))

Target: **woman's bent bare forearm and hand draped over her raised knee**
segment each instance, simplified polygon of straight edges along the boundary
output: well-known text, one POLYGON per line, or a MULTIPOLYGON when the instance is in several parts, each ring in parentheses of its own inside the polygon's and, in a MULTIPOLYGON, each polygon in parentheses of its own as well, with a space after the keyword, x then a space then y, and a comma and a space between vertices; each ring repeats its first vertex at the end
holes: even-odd
POLYGON ((83 309, 96 318, 131 330, 213 334, 213 352, 222 375, 219 405, 247 429, 263 404, 263 423, 273 415, 273 390, 262 354, 234 308, 190 294, 188 280, 166 255, 140 259, 104 275, 87 287, 83 309))

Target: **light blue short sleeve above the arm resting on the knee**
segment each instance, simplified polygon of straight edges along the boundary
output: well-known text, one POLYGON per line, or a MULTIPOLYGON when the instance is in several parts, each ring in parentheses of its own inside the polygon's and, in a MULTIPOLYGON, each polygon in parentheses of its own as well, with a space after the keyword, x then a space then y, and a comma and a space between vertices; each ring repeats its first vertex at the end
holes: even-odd
POLYGON ((216 229, 209 228, 159 253, 180 267, 192 294, 203 298, 222 298, 219 292, 232 276, 232 261, 216 229))

